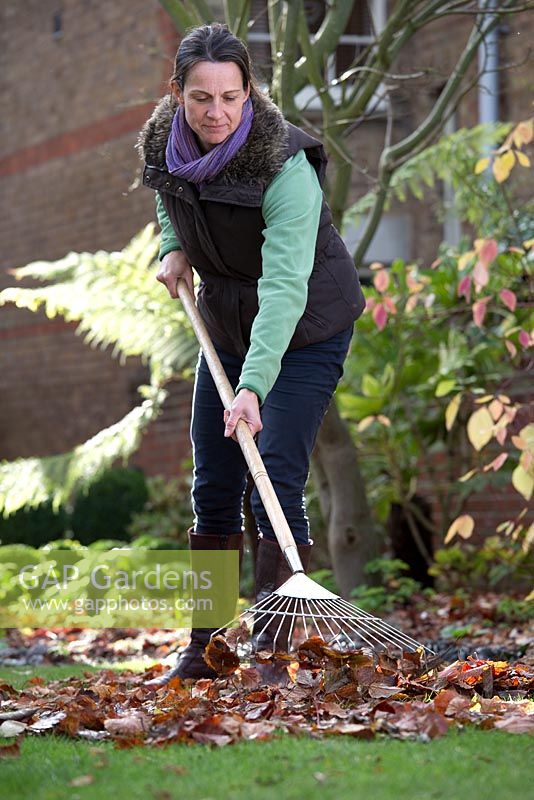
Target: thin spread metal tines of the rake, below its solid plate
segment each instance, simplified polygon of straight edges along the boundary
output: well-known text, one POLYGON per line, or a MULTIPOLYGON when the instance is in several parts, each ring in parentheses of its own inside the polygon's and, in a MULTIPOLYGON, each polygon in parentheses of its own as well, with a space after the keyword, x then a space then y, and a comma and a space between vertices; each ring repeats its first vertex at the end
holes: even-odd
POLYGON ((292 636, 298 629, 303 631, 305 639, 318 635, 333 646, 363 642, 373 649, 393 645, 415 651, 423 647, 411 636, 342 598, 306 599, 274 592, 245 613, 253 619, 255 639, 261 643, 262 636, 268 633, 274 651, 290 650, 292 636), (279 642, 280 637, 285 641, 279 642))

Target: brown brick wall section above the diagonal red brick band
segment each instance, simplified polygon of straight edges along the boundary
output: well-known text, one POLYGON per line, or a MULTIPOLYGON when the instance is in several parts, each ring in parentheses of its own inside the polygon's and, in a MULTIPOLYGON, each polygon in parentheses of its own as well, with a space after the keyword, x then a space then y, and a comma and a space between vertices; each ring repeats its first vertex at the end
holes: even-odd
POLYGON ((162 23, 155 0, 4 0, 2 153, 107 120, 159 92, 162 23), (52 34, 62 12, 62 32, 52 34), (32 121, 32 124, 28 124, 32 121))

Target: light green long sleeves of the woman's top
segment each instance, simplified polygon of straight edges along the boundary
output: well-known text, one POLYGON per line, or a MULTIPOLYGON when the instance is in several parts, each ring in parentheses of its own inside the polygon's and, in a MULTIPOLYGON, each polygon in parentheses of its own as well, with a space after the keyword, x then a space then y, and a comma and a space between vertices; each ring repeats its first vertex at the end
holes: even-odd
MULTIPOLYGON (((300 150, 286 161, 262 202, 265 228, 262 276, 258 280, 259 310, 236 389, 252 390, 260 403, 278 377, 282 356, 306 307, 321 205, 322 190, 316 172, 304 150, 300 150)), ((156 209, 161 227, 161 259, 181 248, 159 194, 156 209)))

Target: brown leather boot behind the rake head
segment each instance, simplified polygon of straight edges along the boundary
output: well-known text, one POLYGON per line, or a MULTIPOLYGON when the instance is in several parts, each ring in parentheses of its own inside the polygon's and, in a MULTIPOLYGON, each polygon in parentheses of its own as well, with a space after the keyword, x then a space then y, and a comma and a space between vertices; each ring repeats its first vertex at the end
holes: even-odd
MULTIPOLYGON (((297 545, 304 570, 308 568, 312 544, 297 545)), ((261 537, 256 556, 256 603, 278 589, 292 574, 278 542, 261 537)), ((288 618, 282 626, 280 618, 276 616, 270 624, 267 625, 267 622, 267 617, 263 617, 253 628, 253 652, 273 652, 275 647, 278 651, 287 651, 291 619, 288 618)), ((256 664, 256 667, 266 683, 277 684, 287 680, 287 667, 283 664, 256 664)))

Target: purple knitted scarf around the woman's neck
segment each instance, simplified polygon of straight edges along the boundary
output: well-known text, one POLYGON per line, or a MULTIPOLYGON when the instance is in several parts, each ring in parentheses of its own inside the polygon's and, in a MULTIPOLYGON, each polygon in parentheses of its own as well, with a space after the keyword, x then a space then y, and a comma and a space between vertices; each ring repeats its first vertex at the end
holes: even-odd
POLYGON ((243 105, 241 122, 235 131, 224 142, 215 145, 207 153, 202 153, 185 118, 184 107, 178 106, 165 151, 167 169, 172 175, 178 175, 191 183, 200 184, 211 180, 244 145, 253 117, 254 111, 249 97, 243 105))

